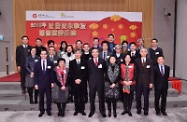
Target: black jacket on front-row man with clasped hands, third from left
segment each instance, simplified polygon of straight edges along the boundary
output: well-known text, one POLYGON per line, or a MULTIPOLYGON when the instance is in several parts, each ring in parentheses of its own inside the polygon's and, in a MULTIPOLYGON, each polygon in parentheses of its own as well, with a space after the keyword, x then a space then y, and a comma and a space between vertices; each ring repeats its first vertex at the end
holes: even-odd
POLYGON ((72 80, 72 85, 74 87, 77 86, 83 86, 86 83, 86 76, 87 76, 87 62, 83 59, 81 59, 80 64, 77 64, 76 59, 74 59, 73 61, 70 61, 69 63, 69 75, 71 77, 72 80), (80 79, 81 83, 80 84, 76 84, 75 80, 76 79, 80 79))

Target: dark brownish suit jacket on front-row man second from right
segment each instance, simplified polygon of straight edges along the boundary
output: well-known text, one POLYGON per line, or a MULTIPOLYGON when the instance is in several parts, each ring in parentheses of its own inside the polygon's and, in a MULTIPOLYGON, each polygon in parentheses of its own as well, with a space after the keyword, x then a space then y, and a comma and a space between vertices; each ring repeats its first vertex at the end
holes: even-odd
POLYGON ((153 62, 151 59, 146 58, 145 65, 142 66, 141 58, 135 60, 135 65, 137 68, 137 86, 143 86, 145 88, 149 87, 149 84, 154 83, 154 70, 153 70, 153 62))

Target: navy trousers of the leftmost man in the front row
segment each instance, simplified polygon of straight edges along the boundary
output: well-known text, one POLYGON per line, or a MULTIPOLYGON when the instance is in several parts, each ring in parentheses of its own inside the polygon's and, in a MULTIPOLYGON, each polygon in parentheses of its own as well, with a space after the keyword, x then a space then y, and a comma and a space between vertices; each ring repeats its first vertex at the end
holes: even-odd
POLYGON ((51 112, 51 88, 40 88, 39 86, 39 110, 40 112, 45 112, 44 109, 44 96, 46 95, 46 104, 47 104, 47 112, 51 112))

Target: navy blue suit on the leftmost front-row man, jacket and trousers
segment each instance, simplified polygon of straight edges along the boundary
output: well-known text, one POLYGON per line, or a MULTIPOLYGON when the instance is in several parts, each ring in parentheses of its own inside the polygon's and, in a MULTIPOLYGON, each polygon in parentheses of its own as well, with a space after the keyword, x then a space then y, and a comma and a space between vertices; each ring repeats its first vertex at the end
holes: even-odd
POLYGON ((39 90, 39 110, 45 112, 44 109, 44 94, 46 94, 47 112, 51 111, 51 83, 53 83, 53 69, 54 65, 47 60, 45 73, 42 71, 41 60, 35 64, 34 68, 34 83, 38 85, 39 90))

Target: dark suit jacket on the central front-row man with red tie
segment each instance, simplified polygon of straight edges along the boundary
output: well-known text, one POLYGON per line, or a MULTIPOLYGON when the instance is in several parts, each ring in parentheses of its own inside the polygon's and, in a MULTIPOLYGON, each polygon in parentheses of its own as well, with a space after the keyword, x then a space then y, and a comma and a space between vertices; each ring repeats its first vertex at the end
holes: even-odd
POLYGON ((90 87, 104 87, 105 73, 106 63, 102 58, 98 58, 98 66, 95 65, 93 59, 88 61, 88 81, 90 87))

